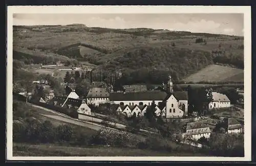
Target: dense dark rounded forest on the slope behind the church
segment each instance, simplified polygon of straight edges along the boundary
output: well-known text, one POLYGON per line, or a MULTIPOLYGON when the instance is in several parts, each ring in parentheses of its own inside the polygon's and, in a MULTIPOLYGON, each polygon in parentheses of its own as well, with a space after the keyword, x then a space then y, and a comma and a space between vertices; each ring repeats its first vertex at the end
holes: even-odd
MULTIPOLYGON (((212 64, 210 52, 203 50, 182 49, 168 44, 144 46, 126 52, 124 50, 112 53, 109 63, 103 63, 107 69, 122 68, 127 70, 169 70, 176 71, 177 77, 194 73, 209 64, 212 64)), ((102 57, 100 61, 106 60, 102 57)), ((159 74, 159 73, 158 73, 159 74)), ((174 76, 175 77, 175 76, 174 76)), ((162 81, 162 80, 160 80, 162 81)), ((161 82, 158 81, 161 84, 161 82)))

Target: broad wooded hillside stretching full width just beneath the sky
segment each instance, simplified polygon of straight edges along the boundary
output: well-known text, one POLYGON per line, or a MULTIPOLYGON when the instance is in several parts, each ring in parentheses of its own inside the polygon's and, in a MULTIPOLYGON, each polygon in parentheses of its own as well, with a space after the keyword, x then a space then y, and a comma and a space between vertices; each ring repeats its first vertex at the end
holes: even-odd
POLYGON ((58 54, 88 61, 104 70, 172 70, 180 79, 211 64, 243 68, 243 42, 243 37, 238 36, 146 28, 108 29, 81 24, 13 26, 13 50, 24 53, 22 60, 26 54, 27 59, 33 59, 33 52, 37 53, 36 59, 40 56, 38 52, 58 54))

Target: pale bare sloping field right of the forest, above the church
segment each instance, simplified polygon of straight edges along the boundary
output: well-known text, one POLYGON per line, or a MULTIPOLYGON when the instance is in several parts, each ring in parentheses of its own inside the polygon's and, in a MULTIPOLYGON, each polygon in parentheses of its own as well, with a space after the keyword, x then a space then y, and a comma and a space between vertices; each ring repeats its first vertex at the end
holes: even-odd
POLYGON ((220 65, 209 65, 206 68, 198 71, 195 74, 184 79, 185 82, 225 82, 234 81, 242 82, 244 81, 244 70, 236 69, 220 65))

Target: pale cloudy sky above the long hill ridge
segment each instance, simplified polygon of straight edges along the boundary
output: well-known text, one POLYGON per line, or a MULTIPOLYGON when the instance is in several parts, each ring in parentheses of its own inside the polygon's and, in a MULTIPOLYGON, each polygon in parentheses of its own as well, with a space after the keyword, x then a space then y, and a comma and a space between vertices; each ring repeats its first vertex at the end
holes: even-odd
POLYGON ((197 14, 13 14, 14 25, 85 24, 89 27, 130 29, 146 27, 244 36, 241 13, 197 14))

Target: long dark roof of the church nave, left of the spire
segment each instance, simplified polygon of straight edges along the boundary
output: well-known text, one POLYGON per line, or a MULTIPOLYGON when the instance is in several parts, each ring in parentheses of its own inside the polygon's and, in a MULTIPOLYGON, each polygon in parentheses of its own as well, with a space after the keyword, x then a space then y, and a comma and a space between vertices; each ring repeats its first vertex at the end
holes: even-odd
POLYGON ((144 100, 163 100, 166 97, 165 92, 145 91, 145 92, 126 92, 111 93, 111 101, 144 101, 144 100))

